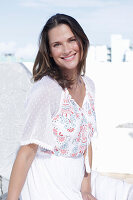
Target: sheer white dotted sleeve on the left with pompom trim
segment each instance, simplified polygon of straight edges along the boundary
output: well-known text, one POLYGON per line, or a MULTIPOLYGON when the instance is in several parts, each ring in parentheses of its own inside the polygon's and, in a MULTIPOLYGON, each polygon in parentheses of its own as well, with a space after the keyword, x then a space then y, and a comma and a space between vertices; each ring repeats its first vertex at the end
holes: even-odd
MULTIPOLYGON (((53 98, 51 96, 52 91, 52 86, 46 85, 44 81, 34 83, 31 88, 26 101, 26 120, 21 145, 35 143, 47 150, 53 150, 55 138, 52 130, 52 114, 56 112, 57 106, 52 106, 54 104, 51 101, 53 98)), ((60 102, 59 99, 58 102, 60 102)))

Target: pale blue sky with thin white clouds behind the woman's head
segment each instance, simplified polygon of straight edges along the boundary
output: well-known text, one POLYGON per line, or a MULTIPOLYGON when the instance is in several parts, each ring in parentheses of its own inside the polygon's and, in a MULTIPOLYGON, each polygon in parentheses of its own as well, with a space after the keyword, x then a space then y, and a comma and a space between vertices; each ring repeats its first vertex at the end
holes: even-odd
POLYGON ((92 45, 110 45, 111 34, 133 44, 132 0, 1 0, 0 53, 33 57, 43 25, 57 12, 76 18, 92 45))

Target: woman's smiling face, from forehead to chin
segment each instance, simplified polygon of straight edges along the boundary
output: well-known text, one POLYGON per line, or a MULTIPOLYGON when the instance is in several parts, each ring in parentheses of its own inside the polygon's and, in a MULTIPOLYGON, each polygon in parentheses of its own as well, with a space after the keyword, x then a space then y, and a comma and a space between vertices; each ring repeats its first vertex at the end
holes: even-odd
POLYGON ((78 41, 66 24, 60 24, 48 32, 50 56, 62 71, 77 70, 80 60, 78 41))

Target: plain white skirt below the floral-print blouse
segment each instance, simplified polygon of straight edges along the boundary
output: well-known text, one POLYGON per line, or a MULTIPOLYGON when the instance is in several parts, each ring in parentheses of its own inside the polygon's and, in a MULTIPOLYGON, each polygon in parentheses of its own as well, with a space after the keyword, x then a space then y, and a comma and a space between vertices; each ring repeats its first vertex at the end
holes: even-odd
POLYGON ((29 169, 20 200, 82 200, 84 157, 36 155, 29 169))

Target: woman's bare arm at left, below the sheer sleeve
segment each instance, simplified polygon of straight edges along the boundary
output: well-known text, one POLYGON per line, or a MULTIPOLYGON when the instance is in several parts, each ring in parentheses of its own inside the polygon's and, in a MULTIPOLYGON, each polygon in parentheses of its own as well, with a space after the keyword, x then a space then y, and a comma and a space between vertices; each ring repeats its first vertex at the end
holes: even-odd
POLYGON ((7 200, 18 200, 37 148, 36 144, 20 147, 10 177, 7 200))

